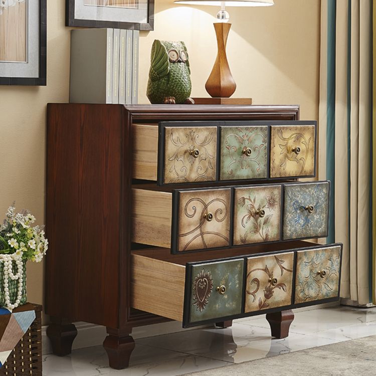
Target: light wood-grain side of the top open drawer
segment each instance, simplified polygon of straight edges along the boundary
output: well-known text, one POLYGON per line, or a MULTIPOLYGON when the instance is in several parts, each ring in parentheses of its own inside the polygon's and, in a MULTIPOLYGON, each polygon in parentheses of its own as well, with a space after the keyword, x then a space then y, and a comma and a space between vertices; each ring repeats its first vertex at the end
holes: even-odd
POLYGON ((156 180, 158 169, 158 125, 133 124, 132 176, 156 180))

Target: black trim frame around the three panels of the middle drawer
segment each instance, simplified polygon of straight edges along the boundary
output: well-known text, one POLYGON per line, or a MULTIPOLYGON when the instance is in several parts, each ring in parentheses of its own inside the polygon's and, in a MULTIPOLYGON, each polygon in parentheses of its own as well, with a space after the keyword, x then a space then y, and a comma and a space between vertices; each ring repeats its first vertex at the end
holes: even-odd
POLYGON ((209 250, 215 249, 229 249, 229 248, 239 248, 244 247, 247 245, 256 245, 256 244, 273 244, 273 243, 288 243, 293 242, 296 240, 308 240, 308 239, 320 239, 326 238, 328 236, 328 228, 329 228, 329 212, 327 211, 326 216, 326 233, 323 236, 307 236, 303 238, 292 238, 292 239, 283 239, 283 218, 284 218, 284 205, 285 205, 285 185, 306 185, 306 184, 315 184, 315 183, 328 183, 328 202, 330 198, 330 181, 329 180, 317 180, 317 181, 290 181, 290 182, 278 182, 274 181, 273 184, 242 184, 242 185, 221 185, 221 186, 214 186, 214 187, 200 187, 200 188, 186 188, 186 189, 178 189, 172 191, 172 213, 171 213, 171 253, 175 255, 181 255, 186 253, 194 253, 194 252, 205 252, 209 250), (277 186, 281 185, 281 213, 280 213, 280 231, 279 231, 279 239, 273 240, 271 242, 257 242, 257 243, 247 243, 247 244, 234 244, 234 219, 235 219, 235 190, 241 188, 253 188, 253 187, 260 187, 260 186, 277 186), (230 203, 230 241, 227 247, 213 247, 213 248, 204 248, 204 249, 197 249, 191 251, 178 251, 177 250, 177 237, 178 237, 178 228, 179 228, 179 193, 185 191, 215 191, 215 190, 222 190, 230 188, 231 189, 231 203, 230 203))

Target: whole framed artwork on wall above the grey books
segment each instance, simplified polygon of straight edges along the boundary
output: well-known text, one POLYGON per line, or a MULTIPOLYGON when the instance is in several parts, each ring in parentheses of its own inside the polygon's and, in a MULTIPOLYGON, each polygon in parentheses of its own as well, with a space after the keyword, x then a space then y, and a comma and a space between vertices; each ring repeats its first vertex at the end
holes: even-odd
POLYGON ((154 0, 66 0, 66 25, 153 30, 154 0))

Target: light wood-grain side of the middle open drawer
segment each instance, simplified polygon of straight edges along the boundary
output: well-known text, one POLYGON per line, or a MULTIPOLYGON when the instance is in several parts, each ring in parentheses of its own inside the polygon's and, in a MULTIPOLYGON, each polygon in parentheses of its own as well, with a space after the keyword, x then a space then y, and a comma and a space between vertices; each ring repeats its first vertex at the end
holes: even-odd
POLYGON ((169 248, 172 194, 132 189, 132 242, 169 248))

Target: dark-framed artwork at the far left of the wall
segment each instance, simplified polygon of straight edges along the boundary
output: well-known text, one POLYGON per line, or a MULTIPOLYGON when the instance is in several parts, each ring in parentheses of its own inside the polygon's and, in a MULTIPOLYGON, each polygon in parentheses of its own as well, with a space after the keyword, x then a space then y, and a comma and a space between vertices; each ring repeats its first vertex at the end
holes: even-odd
POLYGON ((46 0, 0 0, 0 85, 46 85, 46 0))

